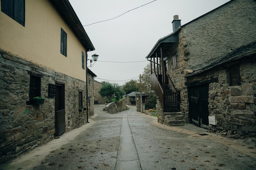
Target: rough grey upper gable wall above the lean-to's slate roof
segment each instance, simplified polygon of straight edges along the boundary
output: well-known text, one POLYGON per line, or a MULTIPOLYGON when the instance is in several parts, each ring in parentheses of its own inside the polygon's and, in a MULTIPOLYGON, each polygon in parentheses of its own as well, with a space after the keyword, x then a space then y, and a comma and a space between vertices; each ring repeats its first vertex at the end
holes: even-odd
POLYGON ((180 44, 189 52, 186 69, 203 68, 255 41, 255 11, 256 1, 234 0, 182 27, 180 44))

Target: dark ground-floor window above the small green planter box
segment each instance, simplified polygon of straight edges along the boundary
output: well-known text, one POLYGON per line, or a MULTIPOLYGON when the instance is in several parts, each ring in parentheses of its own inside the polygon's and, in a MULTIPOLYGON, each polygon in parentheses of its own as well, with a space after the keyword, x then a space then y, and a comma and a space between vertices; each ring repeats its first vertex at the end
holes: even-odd
POLYGON ((29 83, 29 101, 27 102, 27 105, 31 105, 32 99, 37 96, 41 97, 41 75, 31 73, 29 83))

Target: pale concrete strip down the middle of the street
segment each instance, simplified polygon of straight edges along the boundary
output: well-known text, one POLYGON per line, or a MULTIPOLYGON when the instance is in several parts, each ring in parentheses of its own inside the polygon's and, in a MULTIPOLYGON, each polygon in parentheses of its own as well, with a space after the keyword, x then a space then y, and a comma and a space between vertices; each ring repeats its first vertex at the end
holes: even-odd
POLYGON ((122 118, 116 170, 141 170, 127 114, 122 118))

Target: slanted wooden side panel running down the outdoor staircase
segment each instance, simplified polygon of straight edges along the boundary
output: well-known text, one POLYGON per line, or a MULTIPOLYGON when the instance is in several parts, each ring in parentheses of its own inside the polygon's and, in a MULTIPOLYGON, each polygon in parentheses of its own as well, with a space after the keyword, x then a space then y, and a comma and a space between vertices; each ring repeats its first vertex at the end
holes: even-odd
POLYGON ((162 85, 157 80, 157 75, 155 73, 151 74, 151 89, 155 90, 160 103, 162 105, 162 109, 164 109, 164 90, 162 85))

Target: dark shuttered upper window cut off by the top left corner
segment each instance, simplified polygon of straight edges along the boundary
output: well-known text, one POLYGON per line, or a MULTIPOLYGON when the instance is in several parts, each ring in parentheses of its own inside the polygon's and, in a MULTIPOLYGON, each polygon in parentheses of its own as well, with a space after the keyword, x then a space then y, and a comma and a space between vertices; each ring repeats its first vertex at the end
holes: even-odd
POLYGON ((25 0, 1 0, 1 11, 25 26, 25 0))

